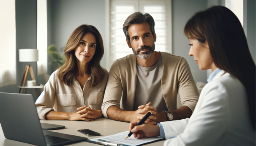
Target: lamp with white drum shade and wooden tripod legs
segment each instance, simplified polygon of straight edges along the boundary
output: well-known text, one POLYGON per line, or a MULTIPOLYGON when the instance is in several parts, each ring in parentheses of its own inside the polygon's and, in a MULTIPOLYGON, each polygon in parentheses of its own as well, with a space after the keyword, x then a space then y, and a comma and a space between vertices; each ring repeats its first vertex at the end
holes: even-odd
MULTIPOLYGON (((36 62, 38 61, 38 49, 19 49, 19 61, 20 62, 28 62, 28 65, 25 67, 25 71, 23 73, 23 77, 21 80, 20 86, 25 86, 26 79, 28 76, 28 73, 30 72, 32 80, 35 80, 35 75, 32 69, 32 66, 29 65, 29 62, 36 62)), ((36 83, 34 83, 34 86, 36 86, 36 83)), ((20 88, 21 91, 21 88, 20 88)), ((19 93, 20 93, 19 91, 19 93)), ((22 93, 24 91, 24 88, 22 90, 22 93)), ((37 94, 37 91, 35 89, 35 93, 37 94)))

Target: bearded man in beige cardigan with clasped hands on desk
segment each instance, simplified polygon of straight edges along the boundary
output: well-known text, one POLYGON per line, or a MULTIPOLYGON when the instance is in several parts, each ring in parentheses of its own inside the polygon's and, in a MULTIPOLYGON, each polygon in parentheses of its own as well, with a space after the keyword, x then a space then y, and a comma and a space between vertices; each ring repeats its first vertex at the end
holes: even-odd
POLYGON ((154 51, 157 35, 148 13, 128 16, 123 31, 134 54, 117 59, 111 66, 102 104, 104 117, 133 122, 151 111, 146 120, 150 124, 189 118, 199 94, 185 58, 154 51))

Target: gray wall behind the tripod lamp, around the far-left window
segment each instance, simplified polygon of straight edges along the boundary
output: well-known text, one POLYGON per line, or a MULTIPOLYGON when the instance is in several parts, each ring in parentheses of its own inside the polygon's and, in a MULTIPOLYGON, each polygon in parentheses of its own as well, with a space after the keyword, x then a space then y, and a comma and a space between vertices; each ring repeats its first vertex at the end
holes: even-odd
MULTIPOLYGON (((23 72, 27 62, 19 62, 19 49, 37 49, 37 2, 36 0, 15 0, 15 15, 16 15, 16 68, 17 68, 17 84, 11 86, 5 86, 0 88, 0 92, 10 92, 18 93, 23 72)), ((33 67, 35 74, 35 79, 37 84, 44 83, 42 76, 37 76, 37 63, 30 63, 33 67)), ((28 74, 27 80, 32 80, 30 73, 28 74)), ((40 95, 40 90, 38 89, 38 96, 40 95)), ((35 97, 35 90, 28 89, 28 94, 32 94, 35 97)))

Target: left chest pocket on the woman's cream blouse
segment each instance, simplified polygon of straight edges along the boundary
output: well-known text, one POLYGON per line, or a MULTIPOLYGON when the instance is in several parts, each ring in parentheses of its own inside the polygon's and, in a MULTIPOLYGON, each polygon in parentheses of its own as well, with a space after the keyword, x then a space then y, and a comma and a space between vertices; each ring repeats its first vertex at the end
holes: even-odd
POLYGON ((76 106, 75 94, 57 94, 57 98, 61 106, 76 106))

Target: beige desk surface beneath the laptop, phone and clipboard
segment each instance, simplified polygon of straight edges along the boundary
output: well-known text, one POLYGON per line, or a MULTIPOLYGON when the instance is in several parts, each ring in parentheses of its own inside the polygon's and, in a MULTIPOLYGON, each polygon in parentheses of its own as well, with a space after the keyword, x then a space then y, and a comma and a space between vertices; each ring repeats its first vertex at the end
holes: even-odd
MULTIPOLYGON (((96 119, 94 121, 70 121, 70 120, 40 120, 41 123, 57 124, 66 126, 64 129, 51 130, 52 132, 59 132, 69 135, 76 135, 81 137, 87 137, 93 139, 97 137, 103 137, 108 135, 114 135, 116 133, 125 132, 129 130, 129 123, 119 122, 115 120, 109 120, 106 118, 96 119), (90 129, 95 132, 99 132, 101 136, 86 136, 77 130, 79 129, 90 129)), ((164 140, 155 143, 150 143, 145 146, 163 146, 164 140)), ((72 143, 67 146, 101 146, 94 143, 87 143, 85 141, 79 143, 72 143)), ((0 126, 0 146, 34 146, 28 143, 21 143, 14 140, 6 139, 3 135, 2 127, 0 126)))

